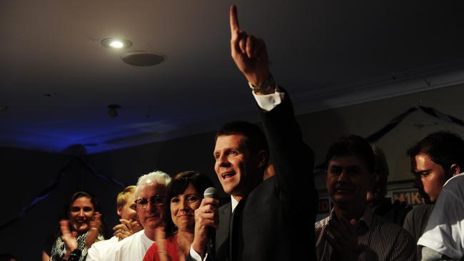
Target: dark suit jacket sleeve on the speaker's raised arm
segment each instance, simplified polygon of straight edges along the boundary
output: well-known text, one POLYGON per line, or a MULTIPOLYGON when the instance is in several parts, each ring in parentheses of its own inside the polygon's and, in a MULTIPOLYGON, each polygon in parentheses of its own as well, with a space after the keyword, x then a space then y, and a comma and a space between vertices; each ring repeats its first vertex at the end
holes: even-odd
POLYGON ((271 111, 260 109, 261 121, 268 139, 271 158, 276 169, 276 183, 283 204, 289 211, 308 215, 316 220, 318 194, 314 187, 314 153, 303 142, 303 135, 293 113, 290 96, 271 111), (309 201, 308 198, 312 200, 309 201), (311 208, 302 209, 303 205, 311 208), (304 213, 302 213, 304 211, 304 213))

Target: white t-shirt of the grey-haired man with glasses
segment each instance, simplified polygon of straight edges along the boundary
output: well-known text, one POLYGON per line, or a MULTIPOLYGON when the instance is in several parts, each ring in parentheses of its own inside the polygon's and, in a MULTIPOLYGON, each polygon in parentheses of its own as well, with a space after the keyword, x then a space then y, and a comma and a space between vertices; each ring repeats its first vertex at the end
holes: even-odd
POLYGON ((145 235, 145 230, 141 230, 117 242, 107 252, 105 261, 141 261, 145 253, 154 241, 145 235))

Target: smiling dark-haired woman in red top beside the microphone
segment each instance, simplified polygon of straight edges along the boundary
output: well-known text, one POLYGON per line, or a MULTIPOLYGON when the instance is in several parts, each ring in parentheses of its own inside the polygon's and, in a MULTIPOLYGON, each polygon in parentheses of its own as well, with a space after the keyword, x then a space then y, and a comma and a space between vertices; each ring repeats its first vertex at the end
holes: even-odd
POLYGON ((195 210, 200 207, 203 191, 210 187, 213 187, 211 180, 196 171, 174 176, 168 185, 163 207, 164 230, 156 231, 157 240, 148 249, 143 261, 185 259, 193 242, 195 210))

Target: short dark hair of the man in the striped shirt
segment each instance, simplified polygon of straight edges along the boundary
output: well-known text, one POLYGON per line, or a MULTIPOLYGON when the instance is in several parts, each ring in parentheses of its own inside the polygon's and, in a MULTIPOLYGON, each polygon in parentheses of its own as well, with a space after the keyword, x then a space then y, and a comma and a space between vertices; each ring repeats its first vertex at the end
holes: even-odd
POLYGON ((365 161, 365 167, 368 172, 374 172, 374 153, 372 148, 365 138, 358 135, 340 137, 328 148, 326 155, 326 168, 333 158, 350 155, 362 157, 365 161))

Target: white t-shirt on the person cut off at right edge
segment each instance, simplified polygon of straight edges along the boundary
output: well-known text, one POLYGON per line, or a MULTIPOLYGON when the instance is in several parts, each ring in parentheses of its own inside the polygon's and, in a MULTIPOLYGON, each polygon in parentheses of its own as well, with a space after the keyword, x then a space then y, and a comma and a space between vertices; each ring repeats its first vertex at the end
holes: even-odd
POLYGON ((464 173, 443 185, 418 245, 456 260, 464 256, 464 173))

